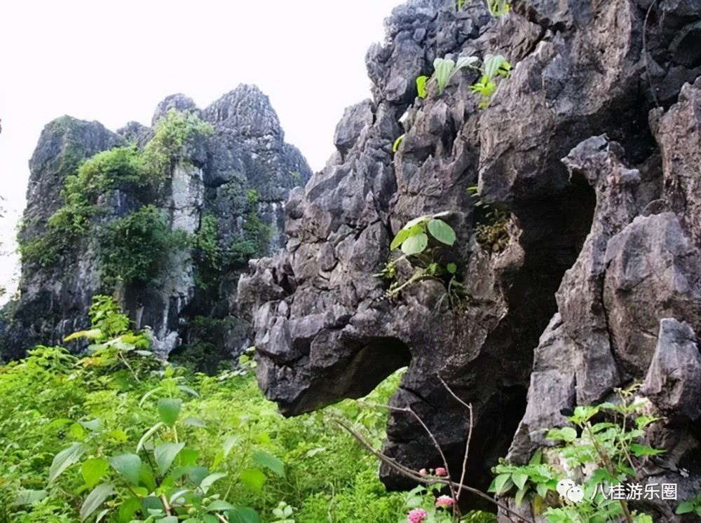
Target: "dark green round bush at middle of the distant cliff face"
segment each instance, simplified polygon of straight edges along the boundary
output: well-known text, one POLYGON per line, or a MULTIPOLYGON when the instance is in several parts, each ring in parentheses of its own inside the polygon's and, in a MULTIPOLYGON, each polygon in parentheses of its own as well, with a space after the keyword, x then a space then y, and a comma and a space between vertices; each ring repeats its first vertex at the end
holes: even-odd
POLYGON ((168 252, 186 246, 186 232, 171 230, 165 212, 154 205, 144 205, 138 211, 112 221, 102 231, 102 284, 111 288, 117 282, 139 286, 155 283, 168 252))

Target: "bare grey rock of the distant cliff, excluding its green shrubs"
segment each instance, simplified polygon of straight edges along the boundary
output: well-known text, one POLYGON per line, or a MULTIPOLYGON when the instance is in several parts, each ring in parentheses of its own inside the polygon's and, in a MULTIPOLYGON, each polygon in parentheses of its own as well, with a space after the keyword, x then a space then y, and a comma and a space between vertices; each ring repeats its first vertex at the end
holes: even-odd
MULTIPOLYGON (((240 85, 200 111, 189 97, 172 95, 158 104, 154 128, 171 109, 195 113, 213 125, 215 134, 185 145, 182 161, 172 168, 165 192, 155 201, 144 201, 143 191, 138 190, 102 195, 102 225, 142 204, 156 203, 167 212, 173 230, 189 235, 198 232, 203 216, 214 216, 217 242, 226 246, 242 235, 250 206, 247 191, 255 190, 257 214, 278 230, 271 240, 273 249, 280 242, 287 195, 309 179, 311 170, 297 148, 285 143, 268 97, 254 86, 240 85)), ((48 124, 29 162, 32 174, 23 239, 31 240, 43 231, 46 219, 62 205, 66 176, 74 174, 82 160, 114 146, 143 147, 153 136, 154 129, 134 122, 117 134, 100 123, 67 116, 48 124)), ((187 249, 172 251, 163 260, 158 284, 117 289, 137 326, 153 329, 156 351, 163 356, 190 339, 189 321, 195 316, 238 321, 234 297, 240 269, 221 270, 219 285, 205 288, 196 281, 195 258, 187 249)), ((86 326, 91 297, 105 291, 97 239, 76 244, 50 269, 22 267, 20 291, 20 300, 5 309, 0 324, 0 359, 19 358, 36 343, 59 344, 65 335, 86 326)), ((241 349, 245 328, 229 328, 221 344, 224 354, 220 356, 241 349)))

